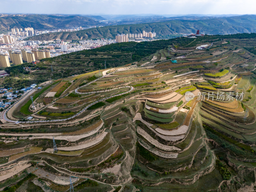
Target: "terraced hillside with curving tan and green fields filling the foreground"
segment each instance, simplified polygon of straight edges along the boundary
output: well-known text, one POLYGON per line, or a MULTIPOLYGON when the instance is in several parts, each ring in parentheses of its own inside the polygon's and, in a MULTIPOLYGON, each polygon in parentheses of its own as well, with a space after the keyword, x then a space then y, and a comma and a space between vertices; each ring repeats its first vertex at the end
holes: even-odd
POLYGON ((255 190, 255 37, 232 36, 176 38, 136 64, 49 82, 34 110, 24 96, 1 113, 0 189, 64 192, 71 177, 75 191, 255 190))

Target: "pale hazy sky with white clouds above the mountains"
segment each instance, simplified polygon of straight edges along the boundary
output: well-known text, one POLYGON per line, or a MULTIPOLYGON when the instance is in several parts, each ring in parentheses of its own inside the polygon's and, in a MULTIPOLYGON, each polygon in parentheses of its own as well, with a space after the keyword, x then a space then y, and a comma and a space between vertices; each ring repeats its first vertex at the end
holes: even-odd
POLYGON ((255 14, 256 0, 0 0, 0 13, 255 14))

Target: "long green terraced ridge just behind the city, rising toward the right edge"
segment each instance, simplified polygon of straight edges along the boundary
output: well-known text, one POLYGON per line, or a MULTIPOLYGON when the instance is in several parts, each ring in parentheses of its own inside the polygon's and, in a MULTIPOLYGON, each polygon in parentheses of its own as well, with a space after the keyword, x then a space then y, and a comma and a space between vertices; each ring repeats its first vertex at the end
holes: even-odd
MULTIPOLYGON (((132 18, 132 17, 131 17, 132 18)), ((152 18, 152 16, 151 16, 152 18)), ((142 19, 145 19, 142 18, 142 19)), ((78 39, 93 39, 93 38, 114 38, 116 34, 121 33, 141 33, 155 31, 158 37, 168 38, 177 36, 178 34, 196 33, 200 30, 205 34, 236 34, 236 33, 252 33, 256 32, 256 15, 241 15, 230 17, 196 17, 196 16, 182 16, 173 18, 154 18, 164 19, 164 22, 148 22, 128 25, 112 25, 97 28, 89 28, 74 32, 59 32, 42 34, 29 37, 30 40, 78 40, 78 39), (169 20, 167 20, 169 19, 169 20)), ((127 17, 126 21, 129 20, 127 17)), ((136 20, 133 18, 133 20, 136 20)), ((115 22, 124 22, 123 20, 115 22)), ((134 21, 135 22, 135 21, 134 21)), ((138 19, 137 22, 141 22, 138 19)))

